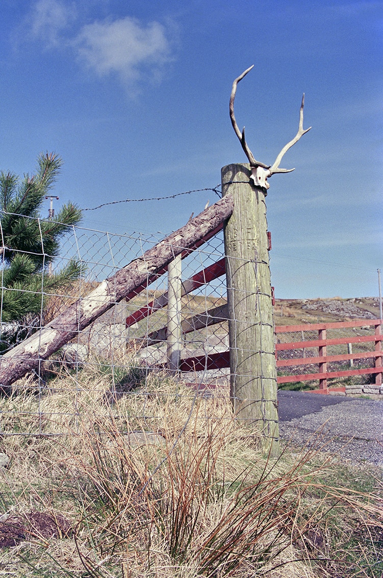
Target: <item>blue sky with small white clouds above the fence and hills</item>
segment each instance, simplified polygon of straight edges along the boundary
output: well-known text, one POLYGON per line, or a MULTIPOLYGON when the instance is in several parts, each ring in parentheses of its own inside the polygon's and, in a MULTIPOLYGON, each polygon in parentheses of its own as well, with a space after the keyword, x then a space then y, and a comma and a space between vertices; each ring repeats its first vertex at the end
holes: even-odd
MULTIPOLYGON (((229 119, 272 164, 267 217, 277 297, 377 295, 382 258, 383 1, 1 0, 0 168, 64 160, 54 192, 82 208, 214 187, 246 162, 229 119)), ((216 197, 120 203, 83 226, 181 227, 216 197)), ((48 205, 47 208, 48 209, 48 205)))

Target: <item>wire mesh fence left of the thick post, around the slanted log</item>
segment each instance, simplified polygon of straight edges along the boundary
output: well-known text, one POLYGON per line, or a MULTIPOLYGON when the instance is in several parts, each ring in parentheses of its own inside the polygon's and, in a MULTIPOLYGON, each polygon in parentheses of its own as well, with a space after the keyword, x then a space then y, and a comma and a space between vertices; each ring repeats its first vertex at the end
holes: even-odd
MULTIPOLYGON (((38 286, 34 287, 34 299, 40 303, 40 314, 30 313, 12 318, 9 303, 17 302, 17 297, 28 295, 27 284, 8 283, 7 274, 12 256, 20 251, 12 250, 3 242, 1 269, 1 312, 0 339, 2 353, 12 352, 14 346, 30 335, 38 335, 40 329, 65 312, 72 303, 81 302, 105 278, 110 278, 132 260, 142 258, 146 250, 156 246, 163 238, 161 234, 142 236, 114 235, 80 227, 68 227, 62 240, 60 255, 49 268, 43 265, 41 274, 36 276, 38 286), (10 251, 10 253, 9 253, 10 251), (51 290, 50 276, 59 275, 68 262, 76 260, 80 264, 78 279, 64 284, 59 290, 51 290), (10 298, 11 297, 11 298, 10 298), (16 297, 16 299, 14 299, 16 297)), ((34 255, 32 255, 33 257, 34 255)), ((38 254, 44 260, 45 247, 38 254)), ((182 262, 182 281, 203 271, 223 257, 222 232, 205 242, 197 250, 187 254, 182 262)), ((161 399, 172 399, 174 395, 193 400, 195 388, 183 387, 180 380, 172 380, 165 372, 167 344, 164 340, 153 340, 150 335, 167 325, 167 306, 155 309, 150 304, 160 301, 168 290, 167 273, 155 276, 149 286, 138 292, 130 301, 115 303, 101 317, 94 320, 83 331, 79 331, 60 350, 41 360, 38 368, 14 384, 17 396, 1 399, 3 435, 60 433, 64 423, 73 424, 83 412, 84 399, 89 405, 93 399, 92 411, 101 415, 105 411, 119 412, 115 402, 130 392, 135 411, 130 409, 129 428, 145 430, 161 416, 160 405, 150 403, 153 389, 160 387, 161 399), (138 309, 148 309, 150 315, 142 317, 138 323, 128 325, 126 319, 138 309), (174 383, 173 383, 174 382, 174 383), (167 383, 165 388, 160 384, 167 383), (20 403, 20 395, 25 400, 20 403), (17 401, 18 400, 18 401, 17 401), (153 413, 154 412, 154 413, 153 413), (133 414, 135 413, 135 415, 133 414), (142 423, 142 420, 145 422, 142 423)), ((182 297, 181 321, 195 314, 208 314, 209 309, 226 302, 224 276, 213 279, 208 285, 200 284, 193 292, 182 297)), ((36 308, 35 308, 36 309, 36 308)), ((226 323, 227 325, 227 323, 226 323)), ((214 325, 192 328, 183 335, 182 356, 189 354, 213 353, 227 349, 227 327, 214 325)), ((0 358, 1 367, 1 358, 0 358)), ((210 381, 227 381, 228 369, 213 372, 210 381)), ((197 375, 186 375, 183 381, 198 384, 197 375)), ((157 394, 156 394, 157 395, 157 394)), ((229 387, 222 388, 221 397, 229 399, 229 387)), ((127 427, 127 425, 126 425, 127 427)))

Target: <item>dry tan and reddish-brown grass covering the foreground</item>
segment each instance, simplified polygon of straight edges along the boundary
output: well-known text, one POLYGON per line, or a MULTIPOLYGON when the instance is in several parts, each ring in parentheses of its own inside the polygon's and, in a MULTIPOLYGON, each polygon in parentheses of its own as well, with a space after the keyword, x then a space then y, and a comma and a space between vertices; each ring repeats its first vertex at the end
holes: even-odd
MULTIPOLYGON (((119 362, 119 372, 134 364, 119 362)), ((40 432, 3 438, 12 454, 0 483, 3 513, 33 505, 73 528, 67 538, 35 536, 2 553, 6 571, 21 564, 19 576, 36 576, 36 568, 93 578, 380 576, 378 492, 347 488, 351 470, 336 477, 319 433, 316 449, 287 447, 270 460, 228 397, 153 372, 111 402, 113 379, 105 360, 93 360, 51 381, 44 395, 25 382, 3 400, 8 432, 40 432), (132 435, 138 431, 146 439, 132 435)))

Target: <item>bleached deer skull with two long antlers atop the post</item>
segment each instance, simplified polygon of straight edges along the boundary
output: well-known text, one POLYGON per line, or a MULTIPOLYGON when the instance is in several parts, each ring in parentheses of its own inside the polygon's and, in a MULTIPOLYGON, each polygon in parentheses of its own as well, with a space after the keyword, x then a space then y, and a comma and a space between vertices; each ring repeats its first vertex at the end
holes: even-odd
POLYGON ((258 167, 262 167, 262 169, 266 169, 266 171, 252 171, 254 179, 255 179, 254 180, 255 184, 257 184, 257 185, 261 184, 263 187, 268 188, 267 177, 274 175, 275 173, 290 173, 290 172, 295 170, 295 169, 280 169, 279 163, 281 162, 283 155, 285 155, 285 153, 293 146, 293 144, 298 142, 298 140, 301 138, 301 136, 303 136, 306 132, 310 131, 311 127, 307 128, 306 130, 303 129, 303 108, 304 108, 304 94, 303 94, 302 103, 301 103, 300 112, 299 112, 299 128, 298 128, 298 132, 297 132, 296 136, 294 136, 294 138, 292 140, 290 140, 289 143, 285 144, 285 146, 283 147, 281 152, 278 154, 278 157, 275 159, 275 162, 272 166, 264 165, 263 162, 259 162, 259 161, 255 160, 255 158, 253 157, 252 151, 249 149, 248 144, 246 143, 245 127, 241 132, 240 129, 238 128, 237 121, 235 120, 235 116, 234 116, 234 99, 235 99, 235 94, 237 92, 237 84, 253 68, 254 68, 254 65, 250 66, 250 68, 245 70, 245 72, 242 72, 242 74, 240 76, 238 76, 238 78, 236 78, 233 82, 233 88, 231 88, 231 95, 230 95, 230 119, 231 119, 231 124, 233 125, 233 128, 234 128, 234 132, 238 136, 238 139, 240 139, 242 149, 244 149, 246 157, 248 157, 250 165, 252 166, 252 168, 257 169, 258 167), (258 175, 255 176, 255 173, 258 173, 258 175))

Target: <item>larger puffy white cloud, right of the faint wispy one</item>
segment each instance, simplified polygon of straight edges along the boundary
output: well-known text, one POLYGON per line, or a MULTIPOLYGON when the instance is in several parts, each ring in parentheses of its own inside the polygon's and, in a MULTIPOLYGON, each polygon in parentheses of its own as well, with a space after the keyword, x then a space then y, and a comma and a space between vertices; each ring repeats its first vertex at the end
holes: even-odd
POLYGON ((164 26, 158 22, 145 26, 129 16, 84 25, 75 46, 98 76, 116 73, 125 84, 137 81, 142 67, 159 75, 165 62, 171 60, 164 26))

